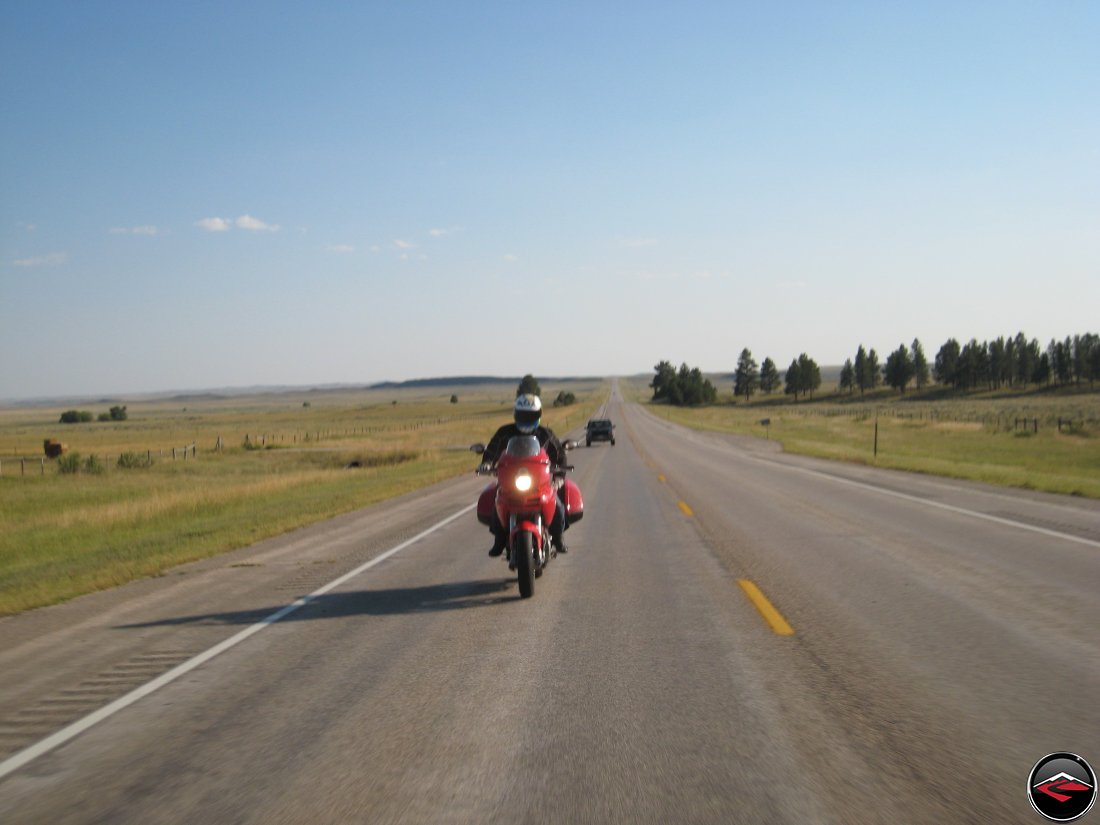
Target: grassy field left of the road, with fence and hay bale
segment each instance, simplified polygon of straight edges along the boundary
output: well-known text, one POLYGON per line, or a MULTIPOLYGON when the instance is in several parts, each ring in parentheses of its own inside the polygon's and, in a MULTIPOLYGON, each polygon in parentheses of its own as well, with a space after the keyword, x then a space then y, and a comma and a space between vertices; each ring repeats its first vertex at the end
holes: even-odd
MULTIPOLYGON (((578 396, 543 416, 560 435, 607 392, 598 382, 560 388, 578 396)), ((553 398, 559 387, 542 389, 553 398)), ((68 407, 2 409, 0 615, 158 575, 471 471, 466 448, 510 419, 513 396, 486 385, 190 397, 127 403, 127 421, 77 425, 57 424, 68 407), (68 444, 63 461, 77 472, 41 460, 47 438, 68 444), (119 466, 123 454, 133 466, 119 466)), ((112 405, 99 406, 79 408, 112 405)))

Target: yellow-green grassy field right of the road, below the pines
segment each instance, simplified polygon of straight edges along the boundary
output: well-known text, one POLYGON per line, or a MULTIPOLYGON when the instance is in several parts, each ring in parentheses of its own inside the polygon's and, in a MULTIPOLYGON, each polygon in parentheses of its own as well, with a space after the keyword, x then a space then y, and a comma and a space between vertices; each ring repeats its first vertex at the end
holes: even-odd
MULTIPOLYGON (((647 383, 638 377, 623 387, 649 404, 647 383)), ((771 438, 789 452, 1100 498, 1100 393, 931 391, 902 398, 879 391, 862 399, 826 393, 798 404, 774 395, 734 404, 726 391, 722 398, 713 407, 649 408, 689 427, 771 438)))

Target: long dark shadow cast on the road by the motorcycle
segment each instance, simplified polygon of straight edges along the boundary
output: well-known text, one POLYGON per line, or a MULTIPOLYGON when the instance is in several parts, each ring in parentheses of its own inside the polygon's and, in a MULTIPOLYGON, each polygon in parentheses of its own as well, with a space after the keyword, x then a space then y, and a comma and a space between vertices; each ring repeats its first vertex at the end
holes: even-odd
MULTIPOLYGON (((437 610, 464 610, 487 607, 502 602, 520 601, 519 592, 508 593, 514 579, 491 579, 475 582, 429 584, 424 587, 394 587, 364 590, 351 593, 326 593, 309 598, 308 603, 289 614, 282 622, 304 622, 340 618, 341 616, 394 616, 437 610)), ((251 610, 201 613, 191 616, 172 616, 153 622, 118 625, 127 630, 141 627, 169 627, 173 625, 254 625, 283 609, 286 605, 257 607, 251 610)))

